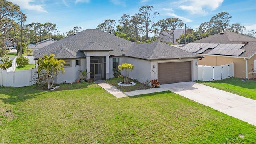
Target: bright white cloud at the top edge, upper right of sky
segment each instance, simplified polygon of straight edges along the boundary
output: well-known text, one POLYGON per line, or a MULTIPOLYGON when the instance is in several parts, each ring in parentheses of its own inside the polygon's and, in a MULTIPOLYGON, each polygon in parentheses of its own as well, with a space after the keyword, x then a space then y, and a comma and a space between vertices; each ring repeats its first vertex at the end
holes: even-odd
POLYGON ((221 6, 224 0, 185 0, 183 5, 178 6, 182 10, 186 10, 191 14, 207 15, 208 12, 216 10, 221 6))

